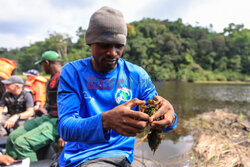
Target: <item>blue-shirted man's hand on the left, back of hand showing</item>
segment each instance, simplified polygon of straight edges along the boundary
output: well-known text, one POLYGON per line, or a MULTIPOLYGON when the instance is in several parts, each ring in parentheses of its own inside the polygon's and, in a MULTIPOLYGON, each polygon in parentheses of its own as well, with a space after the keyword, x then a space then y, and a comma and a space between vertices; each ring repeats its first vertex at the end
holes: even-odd
POLYGON ((144 131, 149 116, 145 113, 133 111, 132 107, 145 104, 145 101, 132 99, 112 110, 102 114, 103 129, 113 129, 123 136, 136 136, 144 131))

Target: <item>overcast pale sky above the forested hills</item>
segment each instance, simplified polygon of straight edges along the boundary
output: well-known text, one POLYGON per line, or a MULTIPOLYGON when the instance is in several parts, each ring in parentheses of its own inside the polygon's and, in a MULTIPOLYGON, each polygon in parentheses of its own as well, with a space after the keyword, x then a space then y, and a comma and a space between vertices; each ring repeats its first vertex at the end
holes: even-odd
POLYGON ((250 29, 250 0, 0 0, 0 47, 29 46, 53 32, 76 39, 76 30, 86 29, 91 14, 102 6, 120 10, 127 23, 181 18, 193 26, 212 24, 216 32, 229 23, 250 29))

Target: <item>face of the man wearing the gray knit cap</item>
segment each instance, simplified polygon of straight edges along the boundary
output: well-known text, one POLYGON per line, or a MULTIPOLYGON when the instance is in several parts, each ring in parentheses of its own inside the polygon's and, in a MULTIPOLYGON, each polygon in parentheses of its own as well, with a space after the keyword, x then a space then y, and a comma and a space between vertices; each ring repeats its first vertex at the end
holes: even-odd
POLYGON ((91 44, 92 66, 97 72, 110 72, 115 69, 124 51, 122 44, 91 44))

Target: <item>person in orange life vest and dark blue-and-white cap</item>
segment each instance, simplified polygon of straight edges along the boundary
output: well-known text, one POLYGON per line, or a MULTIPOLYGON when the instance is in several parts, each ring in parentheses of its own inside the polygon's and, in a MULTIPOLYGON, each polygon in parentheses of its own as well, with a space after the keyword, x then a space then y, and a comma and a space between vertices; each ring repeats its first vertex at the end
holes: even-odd
POLYGON ((39 75, 35 69, 24 72, 23 75, 27 76, 24 84, 24 89, 30 91, 34 99, 34 111, 43 108, 46 101, 46 82, 47 79, 39 75))

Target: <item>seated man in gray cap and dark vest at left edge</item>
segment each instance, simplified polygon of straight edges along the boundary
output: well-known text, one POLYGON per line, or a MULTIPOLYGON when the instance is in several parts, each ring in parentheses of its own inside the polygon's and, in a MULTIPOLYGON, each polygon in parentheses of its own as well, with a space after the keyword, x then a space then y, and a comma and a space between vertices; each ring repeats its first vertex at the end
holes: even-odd
POLYGON ((0 136, 10 133, 33 116, 34 101, 31 93, 23 90, 23 79, 13 75, 8 80, 2 80, 6 92, 0 101, 0 136), (3 113, 4 107, 8 112, 3 113))

